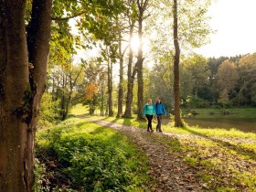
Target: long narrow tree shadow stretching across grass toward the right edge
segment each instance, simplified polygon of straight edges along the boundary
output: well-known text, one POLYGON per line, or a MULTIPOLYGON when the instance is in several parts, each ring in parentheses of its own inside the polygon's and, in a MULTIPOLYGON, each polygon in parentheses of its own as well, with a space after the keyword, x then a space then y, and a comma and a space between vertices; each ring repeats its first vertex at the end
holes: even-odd
POLYGON ((198 133, 198 132, 196 132, 194 130, 191 130, 191 129, 187 128, 187 127, 183 127, 182 129, 186 130, 189 133, 193 133, 193 134, 199 135, 199 136, 201 136, 203 138, 206 138, 208 140, 211 140, 211 141, 213 141, 213 142, 215 142, 217 144, 222 145, 226 149, 234 150, 237 153, 239 153, 240 155, 247 156, 251 160, 256 161, 256 154, 255 154, 255 152, 253 150, 247 149, 247 148, 245 148, 243 146, 240 146, 240 145, 237 145, 237 144, 230 144, 229 142, 225 142, 225 141, 222 141, 220 139, 210 137, 210 136, 205 135, 203 133, 198 133))

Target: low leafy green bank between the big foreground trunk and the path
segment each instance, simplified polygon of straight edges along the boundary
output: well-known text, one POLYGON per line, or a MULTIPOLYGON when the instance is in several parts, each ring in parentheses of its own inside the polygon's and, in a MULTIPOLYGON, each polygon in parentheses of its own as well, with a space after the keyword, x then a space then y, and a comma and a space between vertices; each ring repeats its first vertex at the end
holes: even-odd
POLYGON ((39 151, 55 157, 55 175, 69 188, 86 191, 136 191, 148 180, 145 156, 129 138, 94 123, 69 119, 38 135, 39 151), (48 142, 46 142, 48 140, 48 142), (144 163, 141 163, 144 162, 144 163))

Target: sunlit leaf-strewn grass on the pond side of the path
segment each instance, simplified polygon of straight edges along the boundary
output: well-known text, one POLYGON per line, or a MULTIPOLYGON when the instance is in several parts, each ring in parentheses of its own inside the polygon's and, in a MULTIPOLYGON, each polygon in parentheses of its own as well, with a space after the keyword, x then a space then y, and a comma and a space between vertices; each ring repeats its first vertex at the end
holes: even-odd
MULTIPOLYGON (((85 108, 77 106, 74 114, 85 113, 85 108)), ((146 128, 146 122, 115 117, 99 117, 115 123, 146 128)), ((155 123, 153 125, 155 127, 155 123)), ((180 156, 187 165, 196 167, 197 178, 210 191, 255 191, 256 188, 256 134, 237 130, 203 129, 198 127, 175 128, 163 126, 164 132, 185 133, 191 137, 170 138, 153 134, 158 144, 168 144, 170 151, 180 156), (192 135, 202 137, 193 137, 192 135), (212 137, 215 136, 215 137, 212 137), (216 137, 217 136, 217 137, 216 137), (229 142, 218 137, 229 138, 229 142), (251 139, 245 143, 242 139, 251 139), (237 142, 239 140, 239 142, 237 142)))

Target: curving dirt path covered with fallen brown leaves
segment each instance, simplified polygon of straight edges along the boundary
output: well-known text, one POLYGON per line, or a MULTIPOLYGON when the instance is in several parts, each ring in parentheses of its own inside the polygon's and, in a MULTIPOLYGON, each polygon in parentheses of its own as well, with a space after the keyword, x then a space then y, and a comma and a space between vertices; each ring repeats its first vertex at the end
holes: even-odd
MULTIPOLYGON (((180 156, 170 154, 166 145, 155 143, 152 134, 162 133, 147 133, 144 129, 138 129, 133 126, 86 118, 81 115, 78 117, 101 126, 110 127, 133 138, 133 141, 141 147, 149 158, 149 175, 156 180, 155 186, 150 187, 153 191, 204 191, 203 186, 198 184, 194 177, 196 175, 195 169, 184 164, 180 156)), ((168 133, 167 136, 176 137, 171 133, 168 133)))

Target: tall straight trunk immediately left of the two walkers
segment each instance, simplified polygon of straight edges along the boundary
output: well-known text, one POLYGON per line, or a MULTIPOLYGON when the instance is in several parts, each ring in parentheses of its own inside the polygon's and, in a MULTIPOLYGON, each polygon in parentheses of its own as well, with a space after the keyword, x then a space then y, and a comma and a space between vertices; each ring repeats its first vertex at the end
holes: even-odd
POLYGON ((144 76, 143 76, 143 45, 142 45, 142 36, 143 36, 143 12, 140 11, 139 15, 139 48, 138 48, 138 60, 137 60, 137 80, 138 80, 138 114, 137 119, 142 120, 143 110, 144 110, 144 76))

